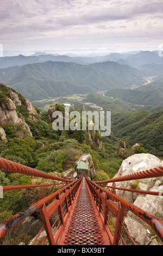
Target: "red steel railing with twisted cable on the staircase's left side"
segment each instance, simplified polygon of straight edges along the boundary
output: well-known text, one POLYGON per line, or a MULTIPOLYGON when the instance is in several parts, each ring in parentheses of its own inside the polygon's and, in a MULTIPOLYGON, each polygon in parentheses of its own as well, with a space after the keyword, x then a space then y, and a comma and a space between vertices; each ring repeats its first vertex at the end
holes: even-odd
POLYGON ((64 181, 64 183, 54 184, 3 186, 3 191, 7 191, 29 187, 63 185, 63 187, 59 190, 32 204, 29 208, 23 210, 22 212, 18 212, 18 214, 12 216, 0 224, 0 240, 2 240, 11 229, 16 227, 17 224, 23 221, 26 217, 32 215, 36 210, 39 210, 42 219, 42 227, 33 240, 32 245, 35 245, 35 243, 39 240, 39 236, 43 230, 46 231, 46 236, 44 237, 41 244, 44 245, 48 242, 49 245, 57 245, 62 233, 64 232, 65 224, 68 220, 70 211, 72 210, 73 202, 81 184, 82 178, 79 180, 70 181, 68 179, 62 179, 58 176, 43 173, 39 170, 29 168, 27 166, 23 166, 22 164, 11 162, 2 158, 0 158, 0 169, 9 172, 23 173, 26 175, 34 175, 47 179, 64 181), (68 184, 68 182, 70 182, 70 184, 68 184), (51 200, 53 201, 51 202, 51 200), (48 205, 46 205, 47 203, 48 205), (52 218, 54 215, 55 218, 52 218))

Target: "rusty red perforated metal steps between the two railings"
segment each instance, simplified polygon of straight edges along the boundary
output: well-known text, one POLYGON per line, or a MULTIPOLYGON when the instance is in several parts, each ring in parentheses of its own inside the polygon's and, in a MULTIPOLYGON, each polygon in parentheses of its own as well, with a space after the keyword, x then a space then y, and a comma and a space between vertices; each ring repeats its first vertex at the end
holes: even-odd
POLYGON ((83 179, 65 236, 66 245, 103 245, 103 236, 92 203, 85 179, 83 179))

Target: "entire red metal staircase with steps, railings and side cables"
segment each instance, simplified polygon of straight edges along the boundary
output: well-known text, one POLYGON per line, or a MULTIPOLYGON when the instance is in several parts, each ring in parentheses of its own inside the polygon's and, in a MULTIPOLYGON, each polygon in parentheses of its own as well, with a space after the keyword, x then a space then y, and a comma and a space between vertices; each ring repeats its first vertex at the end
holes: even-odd
MULTIPOLYGON (((40 170, 2 158, 0 158, 0 169, 61 181, 53 184, 3 186, 3 191, 27 187, 55 186, 58 184, 62 186, 59 190, 49 194, 49 196, 42 198, 29 206, 29 208, 2 222, 0 224, 0 239, 2 244, 3 238, 11 229, 38 210, 41 215, 42 227, 32 241, 32 245, 37 243, 43 230, 46 231, 46 236, 43 241, 41 241, 41 245, 47 243, 48 245, 82 246, 136 245, 136 242, 129 234, 123 222, 126 210, 133 212, 133 214, 142 221, 150 225, 163 242, 163 223, 161 220, 138 208, 134 204, 127 202, 123 198, 118 197, 114 191, 115 189, 122 188, 103 185, 109 182, 123 182, 126 180, 163 176, 163 167, 144 170, 143 172, 124 175, 110 180, 100 180, 98 182, 91 181, 86 176, 82 176, 82 178, 73 181, 62 179, 58 176, 44 173, 40 170), (111 191, 109 188, 111 188, 111 191), (112 221, 112 217, 116 219, 116 222, 112 221)), ((155 191, 127 191, 163 196, 163 193, 160 194, 155 191)))

